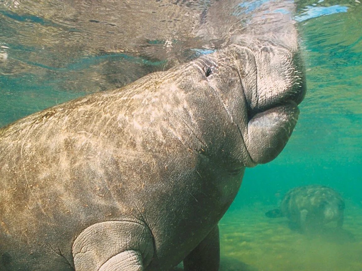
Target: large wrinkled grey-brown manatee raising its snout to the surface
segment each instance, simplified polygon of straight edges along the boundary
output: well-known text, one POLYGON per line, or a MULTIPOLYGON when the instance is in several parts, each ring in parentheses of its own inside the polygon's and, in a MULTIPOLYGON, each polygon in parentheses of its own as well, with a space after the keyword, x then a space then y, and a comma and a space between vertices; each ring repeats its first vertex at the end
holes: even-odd
POLYGON ((0 270, 218 270, 218 221, 306 91, 290 14, 268 7, 214 53, 1 129, 0 270))

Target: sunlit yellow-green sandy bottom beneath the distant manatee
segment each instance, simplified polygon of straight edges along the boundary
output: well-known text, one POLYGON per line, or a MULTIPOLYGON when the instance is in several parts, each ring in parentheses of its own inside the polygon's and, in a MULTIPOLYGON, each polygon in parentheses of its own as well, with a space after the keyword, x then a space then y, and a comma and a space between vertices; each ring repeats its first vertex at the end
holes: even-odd
POLYGON ((349 203, 342 229, 301 234, 286 218, 264 213, 275 206, 255 204, 228 212, 219 223, 220 271, 361 271, 362 206, 349 203))

